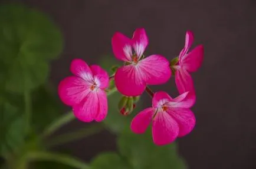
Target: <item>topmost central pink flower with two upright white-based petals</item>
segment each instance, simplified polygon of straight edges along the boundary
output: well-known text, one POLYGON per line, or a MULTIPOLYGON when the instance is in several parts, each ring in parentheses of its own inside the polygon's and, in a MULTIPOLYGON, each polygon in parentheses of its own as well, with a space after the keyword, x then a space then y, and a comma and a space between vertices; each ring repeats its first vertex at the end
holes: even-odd
POLYGON ((148 44, 145 29, 136 29, 129 39, 120 32, 112 38, 112 48, 117 59, 125 62, 114 75, 117 90, 123 95, 141 95, 146 85, 168 81, 171 75, 169 61, 160 55, 143 58, 148 44))

